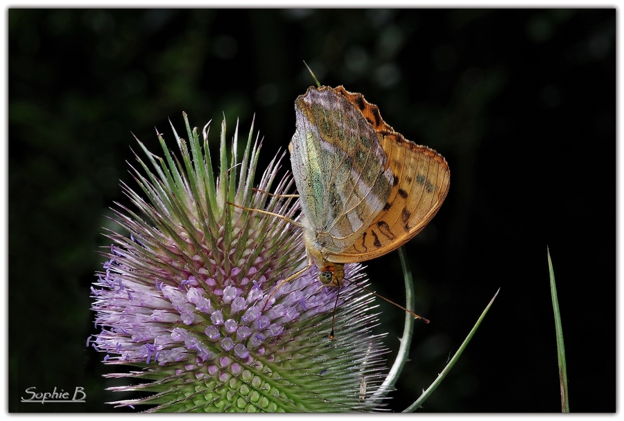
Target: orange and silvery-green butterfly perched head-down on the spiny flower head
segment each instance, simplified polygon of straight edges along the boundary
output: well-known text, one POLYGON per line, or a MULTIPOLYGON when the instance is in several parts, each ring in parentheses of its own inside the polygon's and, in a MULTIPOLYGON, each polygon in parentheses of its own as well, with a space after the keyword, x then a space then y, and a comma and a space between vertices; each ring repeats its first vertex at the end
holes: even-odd
POLYGON ((345 263, 383 256, 431 221, 449 192, 449 165, 342 86, 310 87, 295 114, 288 150, 306 250, 321 283, 340 287, 345 263))

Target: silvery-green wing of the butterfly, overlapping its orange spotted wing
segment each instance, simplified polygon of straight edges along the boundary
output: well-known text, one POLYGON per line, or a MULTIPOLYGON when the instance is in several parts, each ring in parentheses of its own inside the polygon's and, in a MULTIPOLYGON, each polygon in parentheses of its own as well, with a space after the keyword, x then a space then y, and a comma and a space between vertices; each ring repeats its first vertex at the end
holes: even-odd
POLYGON ((374 128, 345 96, 310 88, 295 101, 291 163, 316 246, 347 249, 379 215, 394 175, 374 128))

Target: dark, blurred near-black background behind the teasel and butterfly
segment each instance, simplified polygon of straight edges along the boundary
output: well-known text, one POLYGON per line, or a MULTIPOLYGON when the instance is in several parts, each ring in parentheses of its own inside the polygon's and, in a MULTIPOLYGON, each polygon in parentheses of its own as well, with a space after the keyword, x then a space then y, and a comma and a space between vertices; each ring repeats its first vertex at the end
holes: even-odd
MULTIPOLYGON (((571 411, 615 411, 615 33, 615 9, 8 10, 9 410, 118 411, 85 341, 105 215, 127 203, 120 179, 135 186, 130 132, 159 153, 154 127, 171 141, 182 111, 214 119, 214 142, 224 113, 228 138, 255 114, 263 168, 313 84, 306 60, 451 168, 444 205, 407 246, 432 322, 417 323, 392 410, 431 384, 500 287, 424 411, 560 411, 548 246, 571 411), (28 386, 84 386, 87 404, 20 404, 28 386)), ((378 292, 404 300, 398 253, 367 265, 378 292)), ((396 349, 404 314, 380 308, 396 349)))

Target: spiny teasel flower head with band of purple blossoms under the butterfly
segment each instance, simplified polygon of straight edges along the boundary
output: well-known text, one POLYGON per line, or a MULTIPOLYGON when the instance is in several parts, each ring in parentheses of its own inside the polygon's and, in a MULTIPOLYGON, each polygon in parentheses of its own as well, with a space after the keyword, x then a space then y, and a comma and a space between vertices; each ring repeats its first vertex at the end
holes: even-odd
POLYGON ((337 290, 321 287, 316 267, 270 296, 306 265, 301 229, 227 202, 294 218, 299 202, 283 196, 292 179, 268 195, 276 157, 254 189, 257 139, 252 145, 250 131, 238 161, 237 127, 228 160, 225 121, 216 176, 208 125, 201 143, 184 121, 188 141, 173 129, 181 161, 160 135, 164 158, 139 142, 148 158, 137 156, 143 171, 133 168, 142 195, 124 185, 136 209, 114 210, 130 235, 106 234, 113 244, 92 287, 101 332, 87 344, 105 352, 106 364, 135 368, 108 375, 134 382, 112 389, 151 393, 112 403, 148 411, 379 409, 389 389, 385 348, 372 334, 372 296, 354 285, 364 282, 361 265, 346 267, 351 283, 340 289, 336 339, 329 332, 337 290))

